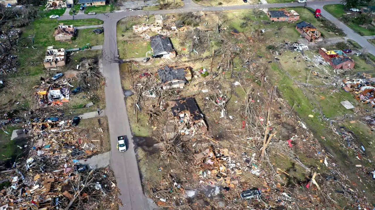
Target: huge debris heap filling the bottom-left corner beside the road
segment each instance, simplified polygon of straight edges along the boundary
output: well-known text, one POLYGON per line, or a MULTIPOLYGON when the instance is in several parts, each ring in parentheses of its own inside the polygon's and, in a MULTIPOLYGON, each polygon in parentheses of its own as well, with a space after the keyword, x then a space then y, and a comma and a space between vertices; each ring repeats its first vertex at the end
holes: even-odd
POLYGON ((110 168, 93 169, 85 158, 101 151, 101 143, 81 136, 80 118, 34 118, 24 127, 31 140, 26 157, 0 174, 0 208, 7 209, 114 209, 121 204, 110 168))

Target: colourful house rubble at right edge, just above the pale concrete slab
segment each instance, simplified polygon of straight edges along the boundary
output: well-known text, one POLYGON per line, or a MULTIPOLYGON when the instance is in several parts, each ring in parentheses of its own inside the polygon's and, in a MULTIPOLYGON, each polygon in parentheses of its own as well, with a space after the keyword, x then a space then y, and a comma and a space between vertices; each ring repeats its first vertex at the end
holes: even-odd
POLYGON ((375 80, 371 75, 363 73, 359 78, 346 77, 341 79, 340 83, 342 89, 353 93, 355 99, 375 107, 375 80))

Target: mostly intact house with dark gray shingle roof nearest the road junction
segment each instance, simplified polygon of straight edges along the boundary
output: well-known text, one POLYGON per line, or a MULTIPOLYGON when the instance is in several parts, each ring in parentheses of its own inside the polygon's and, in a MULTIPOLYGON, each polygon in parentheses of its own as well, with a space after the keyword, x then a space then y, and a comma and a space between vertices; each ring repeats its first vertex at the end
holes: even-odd
POLYGON ((174 58, 176 56, 176 52, 173 49, 169 37, 157 34, 150 37, 150 40, 153 56, 162 55, 163 58, 174 58))

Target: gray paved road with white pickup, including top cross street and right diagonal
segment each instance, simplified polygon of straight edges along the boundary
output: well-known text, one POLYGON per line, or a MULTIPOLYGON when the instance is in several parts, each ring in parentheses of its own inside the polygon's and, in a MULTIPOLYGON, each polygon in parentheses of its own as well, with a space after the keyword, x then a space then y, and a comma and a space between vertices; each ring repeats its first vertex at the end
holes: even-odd
MULTIPOLYGON (((375 47, 369 44, 365 38, 354 33, 350 28, 342 24, 338 19, 323 10, 323 5, 338 4, 341 0, 332 1, 309 1, 308 6, 312 8, 321 9, 322 15, 332 21, 352 40, 357 41, 361 46, 366 47, 370 53, 375 55, 375 47)), ((271 7, 291 7, 301 6, 299 3, 279 3, 279 4, 264 4, 261 8, 271 7)), ((218 6, 218 7, 202 7, 192 0, 185 0, 184 7, 179 9, 169 10, 154 10, 150 14, 166 14, 166 13, 184 13, 184 12, 198 12, 198 11, 220 11, 220 10, 236 10, 236 9, 253 9, 253 5, 238 5, 238 6, 218 6)), ((117 177, 117 186, 121 190, 120 199, 124 206, 121 210, 144 210, 149 209, 147 199, 143 195, 141 180, 138 172, 138 164, 135 157, 133 143, 129 142, 129 150, 126 152, 118 152, 117 136, 127 135, 131 139, 131 131, 129 120, 127 117, 126 106, 124 102, 124 95, 121 89, 119 65, 115 61, 117 58, 117 21, 122 18, 136 15, 145 15, 145 11, 129 11, 129 12, 114 12, 97 15, 76 15, 76 19, 98 18, 104 21, 104 47, 103 47, 103 69, 104 75, 107 78, 107 86, 105 87, 105 101, 106 101, 106 115, 108 117, 108 125, 110 129, 111 152, 110 163, 117 177)), ((72 16, 62 16, 59 19, 72 19, 72 16)))

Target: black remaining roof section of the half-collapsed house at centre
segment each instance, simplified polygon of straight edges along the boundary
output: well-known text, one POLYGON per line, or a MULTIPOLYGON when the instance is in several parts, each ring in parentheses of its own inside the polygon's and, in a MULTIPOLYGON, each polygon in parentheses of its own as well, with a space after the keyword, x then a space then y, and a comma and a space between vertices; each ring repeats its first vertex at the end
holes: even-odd
POLYGON ((193 116, 193 120, 200 120, 203 118, 194 98, 180 98, 169 101, 169 106, 171 106, 171 111, 174 117, 177 117, 180 112, 187 110, 193 116))

